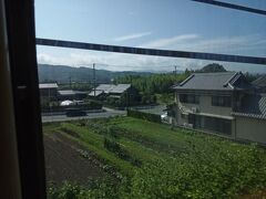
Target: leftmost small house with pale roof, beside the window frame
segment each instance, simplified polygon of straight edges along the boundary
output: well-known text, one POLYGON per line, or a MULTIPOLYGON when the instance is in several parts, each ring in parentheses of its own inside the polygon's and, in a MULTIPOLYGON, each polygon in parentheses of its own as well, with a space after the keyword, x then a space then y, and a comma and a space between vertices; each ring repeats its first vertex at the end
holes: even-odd
POLYGON ((41 98, 55 100, 58 97, 58 84, 57 83, 41 83, 39 84, 41 98))

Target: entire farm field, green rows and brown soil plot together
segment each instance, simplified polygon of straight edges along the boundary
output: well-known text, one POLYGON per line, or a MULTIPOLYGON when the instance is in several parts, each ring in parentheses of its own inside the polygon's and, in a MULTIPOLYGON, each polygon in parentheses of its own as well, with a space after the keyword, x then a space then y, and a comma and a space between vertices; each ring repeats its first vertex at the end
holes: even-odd
POLYGON ((48 123, 43 134, 50 198, 249 198, 266 187, 255 144, 132 117, 48 123))

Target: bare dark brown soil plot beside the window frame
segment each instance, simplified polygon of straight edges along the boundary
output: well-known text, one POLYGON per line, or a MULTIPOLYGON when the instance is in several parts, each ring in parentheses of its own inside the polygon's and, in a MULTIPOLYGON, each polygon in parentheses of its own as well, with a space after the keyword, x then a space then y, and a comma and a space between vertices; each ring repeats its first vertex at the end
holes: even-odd
MULTIPOLYGON (((84 147, 62 134, 44 135, 47 182, 60 185, 65 180, 86 185, 90 179, 100 179, 108 174, 92 157, 82 157, 84 147)), ((86 151, 90 156, 90 154, 86 151)))

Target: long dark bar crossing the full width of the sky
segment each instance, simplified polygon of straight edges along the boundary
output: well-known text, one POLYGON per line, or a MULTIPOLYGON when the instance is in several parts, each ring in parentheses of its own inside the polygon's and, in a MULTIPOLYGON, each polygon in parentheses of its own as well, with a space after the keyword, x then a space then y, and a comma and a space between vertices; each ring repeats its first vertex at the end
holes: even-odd
POLYGON ((191 52, 191 51, 143 49, 143 48, 106 45, 106 44, 96 44, 96 43, 63 41, 63 40, 39 39, 39 38, 35 39, 35 43, 38 45, 49 45, 49 46, 60 46, 60 48, 70 48, 70 49, 104 51, 104 52, 116 52, 116 53, 126 53, 126 54, 143 54, 143 55, 152 55, 152 56, 213 60, 213 61, 252 63, 252 64, 266 65, 266 57, 257 57, 257 56, 191 52))

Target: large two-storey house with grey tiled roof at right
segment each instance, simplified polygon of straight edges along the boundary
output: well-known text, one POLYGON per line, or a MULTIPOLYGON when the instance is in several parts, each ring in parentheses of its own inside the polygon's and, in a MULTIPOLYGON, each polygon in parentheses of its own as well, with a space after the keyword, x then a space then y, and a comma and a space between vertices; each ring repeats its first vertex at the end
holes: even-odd
POLYGON ((241 72, 194 73, 173 88, 176 125, 266 144, 265 95, 241 72))

